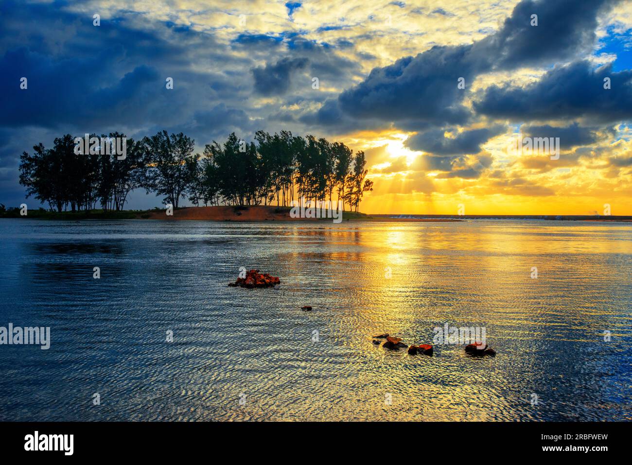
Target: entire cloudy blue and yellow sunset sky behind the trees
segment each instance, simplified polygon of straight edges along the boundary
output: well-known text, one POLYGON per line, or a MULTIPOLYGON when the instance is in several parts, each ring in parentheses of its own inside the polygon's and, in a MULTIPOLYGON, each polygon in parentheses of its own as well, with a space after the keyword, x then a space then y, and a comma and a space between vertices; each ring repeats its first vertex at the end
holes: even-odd
POLYGON ((631 1, 9 0, 0 87, 7 206, 64 133, 290 130, 365 151, 369 214, 632 215, 631 1))

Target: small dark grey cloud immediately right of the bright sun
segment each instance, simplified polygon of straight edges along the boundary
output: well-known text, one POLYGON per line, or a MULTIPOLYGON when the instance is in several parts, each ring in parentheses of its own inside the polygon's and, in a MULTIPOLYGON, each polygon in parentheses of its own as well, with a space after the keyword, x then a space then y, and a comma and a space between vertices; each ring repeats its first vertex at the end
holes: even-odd
MULTIPOLYGON (((456 133, 453 138, 444 136, 446 130, 430 130, 417 134, 406 140, 411 150, 423 150, 435 155, 477 154, 480 146, 490 138, 504 133, 505 127, 499 125, 492 128, 466 130, 456 133)), ((447 131, 451 131, 447 129, 447 131)))

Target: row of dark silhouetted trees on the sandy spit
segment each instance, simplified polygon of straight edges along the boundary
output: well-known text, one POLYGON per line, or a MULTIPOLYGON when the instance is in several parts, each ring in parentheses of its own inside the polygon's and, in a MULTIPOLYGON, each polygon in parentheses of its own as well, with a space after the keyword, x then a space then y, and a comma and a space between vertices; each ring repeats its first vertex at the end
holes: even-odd
MULTIPOLYGON (((90 138, 97 136, 90 135, 90 138)), ((120 133, 100 140, 125 138, 120 133)), ((164 196, 178 207, 195 205, 291 205, 293 200, 342 201, 358 211, 362 196, 373 190, 366 179, 365 154, 341 142, 257 131, 255 142, 234 133, 222 145, 213 141, 194 154, 194 141, 183 133, 161 131, 142 140, 126 139, 125 157, 99 147, 76 150, 70 134, 42 143, 20 157, 20 184, 52 210, 122 210, 137 188, 164 196), (256 142, 256 143, 255 143, 256 142), (78 153, 79 152, 79 153, 78 153)))

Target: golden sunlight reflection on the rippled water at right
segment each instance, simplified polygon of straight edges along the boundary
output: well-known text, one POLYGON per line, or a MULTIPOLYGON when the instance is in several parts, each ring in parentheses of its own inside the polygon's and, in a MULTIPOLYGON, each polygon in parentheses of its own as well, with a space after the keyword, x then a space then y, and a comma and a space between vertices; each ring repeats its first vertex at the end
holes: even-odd
POLYGON ((334 417, 529 420, 542 418, 531 394, 554 390, 549 402, 566 399, 557 399, 554 418, 593 418, 580 407, 574 411, 568 397, 585 396, 587 386, 593 398, 607 396, 599 370, 608 370, 600 364, 617 361, 622 347, 604 346, 603 329, 630 339, 631 231, 534 222, 384 222, 302 231, 302 238, 324 241, 318 242, 324 250, 296 255, 303 263, 297 266, 310 254, 320 258, 320 279, 336 289, 324 293, 336 309, 325 325, 353 366, 353 395, 343 396, 344 413, 334 417), (432 329, 446 322, 486 327, 498 356, 472 359, 462 346, 439 345, 432 358, 413 357, 374 346, 370 337, 387 332, 407 344, 432 344, 432 329), (586 353, 581 344, 595 349, 586 353), (597 373, 584 373, 591 370, 597 373), (387 393, 391 405, 384 403, 387 393))

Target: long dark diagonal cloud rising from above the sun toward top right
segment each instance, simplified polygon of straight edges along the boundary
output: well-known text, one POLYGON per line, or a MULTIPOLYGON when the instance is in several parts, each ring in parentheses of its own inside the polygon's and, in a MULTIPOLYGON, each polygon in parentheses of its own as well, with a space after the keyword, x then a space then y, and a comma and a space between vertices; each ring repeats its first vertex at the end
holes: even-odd
MULTIPOLYGON (((461 103, 481 73, 568 59, 596 40, 597 14, 615 0, 523 0, 501 29, 471 45, 435 46, 374 68, 360 84, 339 95, 342 111, 355 118, 409 120, 442 126, 465 124, 470 110, 461 103), (530 25, 538 15, 538 26, 530 25)), ((328 111, 331 111, 329 109, 328 111)))

